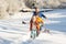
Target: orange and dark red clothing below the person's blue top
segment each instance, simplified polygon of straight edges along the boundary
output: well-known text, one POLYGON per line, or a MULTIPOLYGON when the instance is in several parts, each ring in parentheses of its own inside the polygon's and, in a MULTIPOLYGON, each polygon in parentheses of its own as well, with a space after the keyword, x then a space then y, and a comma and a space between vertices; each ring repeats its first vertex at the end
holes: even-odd
POLYGON ((40 16, 35 16, 34 23, 33 23, 34 19, 31 19, 30 21, 30 30, 32 30, 33 25, 36 26, 36 30, 40 30, 40 23, 43 23, 43 20, 40 16))

